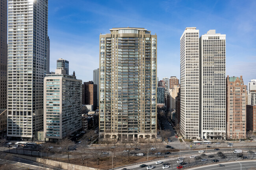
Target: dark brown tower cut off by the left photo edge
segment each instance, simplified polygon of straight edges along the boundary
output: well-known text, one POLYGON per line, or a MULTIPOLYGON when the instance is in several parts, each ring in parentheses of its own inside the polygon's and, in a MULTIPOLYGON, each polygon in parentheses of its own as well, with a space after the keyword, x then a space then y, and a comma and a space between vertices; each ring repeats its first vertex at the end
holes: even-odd
POLYGON ((0 110, 5 110, 7 108, 7 0, 1 0, 0 20, 0 110))

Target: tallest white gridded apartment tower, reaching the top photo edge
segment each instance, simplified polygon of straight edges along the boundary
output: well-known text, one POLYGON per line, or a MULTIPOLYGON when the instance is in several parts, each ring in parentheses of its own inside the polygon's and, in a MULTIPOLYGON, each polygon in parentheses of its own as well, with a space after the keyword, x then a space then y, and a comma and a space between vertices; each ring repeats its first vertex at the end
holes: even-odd
POLYGON ((8 137, 32 139, 43 129, 47 27, 48 0, 8 1, 8 137))

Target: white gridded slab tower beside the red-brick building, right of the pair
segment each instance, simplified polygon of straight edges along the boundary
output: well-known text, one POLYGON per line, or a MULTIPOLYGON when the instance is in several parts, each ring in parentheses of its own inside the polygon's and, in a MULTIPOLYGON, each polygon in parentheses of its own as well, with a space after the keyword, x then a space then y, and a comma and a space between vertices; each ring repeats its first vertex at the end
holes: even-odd
POLYGON ((226 35, 209 30, 200 37, 200 134, 226 133, 226 35))

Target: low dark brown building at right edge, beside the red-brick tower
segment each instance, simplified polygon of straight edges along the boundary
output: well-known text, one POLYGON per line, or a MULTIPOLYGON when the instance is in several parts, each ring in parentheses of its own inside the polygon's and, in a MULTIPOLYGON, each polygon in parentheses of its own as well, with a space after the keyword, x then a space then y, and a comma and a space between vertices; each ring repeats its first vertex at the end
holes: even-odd
POLYGON ((256 105, 246 106, 246 129, 256 132, 256 105))

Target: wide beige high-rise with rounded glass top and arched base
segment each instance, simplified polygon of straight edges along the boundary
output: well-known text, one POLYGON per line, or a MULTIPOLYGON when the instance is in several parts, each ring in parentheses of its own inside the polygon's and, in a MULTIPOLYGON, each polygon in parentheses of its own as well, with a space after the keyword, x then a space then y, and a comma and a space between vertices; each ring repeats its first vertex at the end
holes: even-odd
POLYGON ((144 28, 100 35, 100 138, 156 137, 157 35, 144 28))

